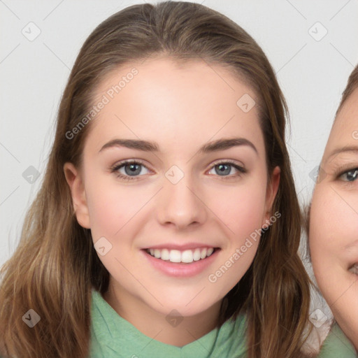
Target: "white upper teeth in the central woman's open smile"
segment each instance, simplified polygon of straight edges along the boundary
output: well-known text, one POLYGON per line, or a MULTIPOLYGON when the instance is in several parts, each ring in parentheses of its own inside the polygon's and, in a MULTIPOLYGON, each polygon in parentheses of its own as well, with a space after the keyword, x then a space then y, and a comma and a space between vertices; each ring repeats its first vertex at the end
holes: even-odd
POLYGON ((205 259, 214 252, 214 248, 196 248, 194 250, 169 250, 169 249, 148 249, 150 255, 154 256, 157 259, 162 259, 164 261, 170 262, 185 262, 190 264, 193 261, 199 261, 200 259, 205 259))

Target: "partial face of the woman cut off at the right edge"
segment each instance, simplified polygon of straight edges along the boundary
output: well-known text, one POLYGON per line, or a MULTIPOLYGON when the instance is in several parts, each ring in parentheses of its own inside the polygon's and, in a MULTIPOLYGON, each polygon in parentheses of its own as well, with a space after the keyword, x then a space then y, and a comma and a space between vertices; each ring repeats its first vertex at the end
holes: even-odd
POLYGON ((317 284, 356 350, 358 269, 352 266, 358 264, 357 103, 355 90, 331 129, 313 194, 309 229, 317 284))

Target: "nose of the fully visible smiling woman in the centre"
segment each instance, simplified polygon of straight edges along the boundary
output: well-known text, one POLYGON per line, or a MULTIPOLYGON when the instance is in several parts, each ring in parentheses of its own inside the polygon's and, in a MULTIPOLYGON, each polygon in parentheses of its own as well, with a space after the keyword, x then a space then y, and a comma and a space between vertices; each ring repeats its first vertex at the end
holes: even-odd
POLYGON ((185 175, 179 182, 173 184, 164 178, 157 203, 157 217, 162 225, 172 225, 177 229, 185 229, 203 224, 208 212, 202 190, 194 186, 189 175, 185 175))

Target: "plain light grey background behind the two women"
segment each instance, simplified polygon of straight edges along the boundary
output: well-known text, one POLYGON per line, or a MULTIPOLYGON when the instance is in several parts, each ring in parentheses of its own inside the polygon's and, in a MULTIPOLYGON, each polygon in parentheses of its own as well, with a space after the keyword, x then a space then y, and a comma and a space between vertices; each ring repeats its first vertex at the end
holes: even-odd
MULTIPOLYGON (((80 46, 106 17, 142 2, 0 0, 0 264, 15 250, 41 185, 59 99, 80 46), (22 34, 36 34, 29 22, 41 30, 34 41, 22 34), (32 184, 22 176, 29 166, 40 172, 32 184)), ((289 105, 287 144, 299 199, 307 203, 310 172, 358 63, 358 0, 196 2, 231 17, 266 52, 289 105)))

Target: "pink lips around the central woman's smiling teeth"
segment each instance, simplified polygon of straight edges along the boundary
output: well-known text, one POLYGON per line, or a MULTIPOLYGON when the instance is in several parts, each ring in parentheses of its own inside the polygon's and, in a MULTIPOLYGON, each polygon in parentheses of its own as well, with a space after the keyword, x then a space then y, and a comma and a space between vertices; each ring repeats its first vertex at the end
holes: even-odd
MULTIPOLYGON (((164 246, 162 246, 164 248, 164 246)), ((170 245, 170 247, 175 247, 175 245, 170 245)), ((172 250, 181 250, 185 246, 180 246, 178 249, 178 246, 176 246, 176 249, 172 250)), ((208 245, 204 246, 191 246, 190 248, 210 248, 208 245)), ((161 246, 153 246, 151 248, 161 248, 161 246)), ((166 246, 165 248, 168 248, 166 246)), ((183 249, 184 250, 184 249, 183 249)), ((189 250, 189 248, 187 248, 189 250)), ((220 252, 220 249, 215 250, 213 254, 211 254, 209 257, 206 257, 205 259, 200 259, 199 261, 192 262, 190 264, 185 264, 183 262, 170 262, 170 261, 164 261, 162 259, 156 259, 155 257, 152 257, 152 255, 148 254, 146 250, 141 250, 141 252, 144 255, 144 258, 148 260, 149 264, 153 266, 157 271, 160 271, 161 273, 164 273, 165 275, 169 275, 171 277, 193 277, 195 275, 199 275, 199 273, 202 273, 208 266, 213 264, 215 259, 217 258, 218 253, 220 252)))

